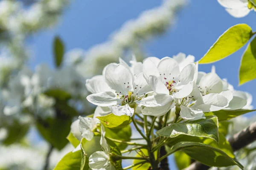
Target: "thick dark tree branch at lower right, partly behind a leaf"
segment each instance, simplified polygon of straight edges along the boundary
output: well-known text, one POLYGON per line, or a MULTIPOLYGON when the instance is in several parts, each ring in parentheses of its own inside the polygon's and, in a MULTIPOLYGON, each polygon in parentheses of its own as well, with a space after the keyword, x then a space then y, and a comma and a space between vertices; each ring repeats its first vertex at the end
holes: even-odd
MULTIPOLYGON (((256 140, 256 122, 252 123, 250 126, 244 130, 236 133, 228 139, 233 151, 239 150, 246 147, 248 144, 256 140)), ((195 161, 189 167, 184 170, 208 170, 210 167, 202 164, 199 161, 195 161)))

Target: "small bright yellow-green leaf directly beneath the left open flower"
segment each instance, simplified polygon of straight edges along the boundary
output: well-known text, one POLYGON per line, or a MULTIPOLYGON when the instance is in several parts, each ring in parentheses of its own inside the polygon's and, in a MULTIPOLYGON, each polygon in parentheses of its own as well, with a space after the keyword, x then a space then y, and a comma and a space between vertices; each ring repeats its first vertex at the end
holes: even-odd
POLYGON ((108 128, 126 127, 131 123, 130 116, 126 116, 126 115, 116 116, 113 113, 108 114, 106 116, 98 116, 97 118, 105 127, 108 127, 108 128))

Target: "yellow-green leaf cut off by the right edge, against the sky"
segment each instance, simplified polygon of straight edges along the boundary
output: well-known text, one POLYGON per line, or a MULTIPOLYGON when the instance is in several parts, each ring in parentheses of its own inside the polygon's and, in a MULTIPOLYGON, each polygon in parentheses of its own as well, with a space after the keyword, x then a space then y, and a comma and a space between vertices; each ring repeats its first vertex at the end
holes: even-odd
POLYGON ((244 51, 239 68, 239 85, 256 78, 256 37, 244 51))

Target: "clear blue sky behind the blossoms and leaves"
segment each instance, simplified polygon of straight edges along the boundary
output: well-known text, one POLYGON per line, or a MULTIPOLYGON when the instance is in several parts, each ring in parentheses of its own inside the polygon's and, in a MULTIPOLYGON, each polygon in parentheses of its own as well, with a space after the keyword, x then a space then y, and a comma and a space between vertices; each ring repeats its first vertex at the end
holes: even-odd
MULTIPOLYGON (((52 40, 61 36, 67 50, 73 48, 89 49, 93 45, 105 42, 113 31, 125 21, 135 19, 147 9, 160 6, 161 0, 71 0, 60 22, 54 28, 41 31, 29 39, 34 58, 30 65, 47 62, 52 64, 52 40)), ((256 31, 256 12, 247 17, 231 17, 217 0, 191 0, 178 14, 177 24, 166 34, 145 44, 149 56, 159 58, 175 55, 179 52, 194 55, 196 60, 204 56, 217 38, 233 25, 246 23, 256 31)), ((256 96, 256 81, 238 87, 238 70, 241 56, 246 46, 235 54, 214 63, 221 78, 227 78, 235 89, 247 91, 256 96)), ((200 71, 209 72, 212 64, 199 65, 200 71)), ((253 101, 256 108, 256 100, 253 101)), ((253 115, 255 113, 250 113, 253 115)), ((173 162, 171 162, 172 166, 173 162)), ((175 170, 175 168, 172 168, 175 170)))

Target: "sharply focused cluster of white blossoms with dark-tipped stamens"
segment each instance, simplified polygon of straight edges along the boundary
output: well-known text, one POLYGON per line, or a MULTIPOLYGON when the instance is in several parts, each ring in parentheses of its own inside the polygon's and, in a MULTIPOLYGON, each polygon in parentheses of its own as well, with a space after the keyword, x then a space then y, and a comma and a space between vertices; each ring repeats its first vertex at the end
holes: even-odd
POLYGON ((198 72, 194 59, 180 53, 173 58, 148 57, 142 63, 134 57, 131 66, 119 59, 102 75, 87 79, 92 93, 87 100, 98 106, 99 115, 133 116, 141 108, 144 115, 162 116, 178 108, 181 118, 190 120, 205 119, 206 112, 250 108, 250 94, 234 91, 214 67, 210 73, 198 72))

